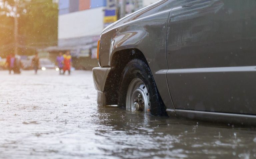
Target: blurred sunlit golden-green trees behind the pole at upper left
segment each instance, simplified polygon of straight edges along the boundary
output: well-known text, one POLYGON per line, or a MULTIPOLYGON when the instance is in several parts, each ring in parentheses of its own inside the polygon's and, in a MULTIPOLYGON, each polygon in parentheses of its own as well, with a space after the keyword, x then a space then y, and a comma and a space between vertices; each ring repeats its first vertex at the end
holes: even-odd
MULTIPOLYGON (((14 0, 5 0, 4 3, 15 4, 14 0)), ((14 17, 8 12, 12 11, 0 8, 1 56, 6 56, 14 48, 14 17)), ((57 45, 58 4, 52 0, 19 0, 17 15, 20 55, 31 55, 39 48, 57 45)))

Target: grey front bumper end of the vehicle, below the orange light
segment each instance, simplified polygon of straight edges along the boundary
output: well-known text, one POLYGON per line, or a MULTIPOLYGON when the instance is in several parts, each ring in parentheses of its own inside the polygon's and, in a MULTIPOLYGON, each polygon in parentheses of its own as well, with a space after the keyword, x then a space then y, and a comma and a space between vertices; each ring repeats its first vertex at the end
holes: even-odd
POLYGON ((106 84, 106 80, 108 78, 108 74, 111 68, 93 68, 93 81, 94 87, 98 91, 97 92, 97 103, 98 105, 106 105, 106 95, 104 93, 104 88, 106 84))

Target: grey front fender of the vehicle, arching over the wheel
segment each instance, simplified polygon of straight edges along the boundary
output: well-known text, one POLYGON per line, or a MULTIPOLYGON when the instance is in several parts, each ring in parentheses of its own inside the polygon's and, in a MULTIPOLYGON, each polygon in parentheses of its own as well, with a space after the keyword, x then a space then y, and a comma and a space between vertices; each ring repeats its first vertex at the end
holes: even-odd
MULTIPOLYGON (((110 28, 101 35, 100 64, 111 66, 113 55, 120 50, 140 50, 151 69, 159 93, 168 109, 174 109, 167 86, 166 74, 157 74, 159 70, 167 70, 166 61, 166 27, 170 9, 169 1, 161 1, 137 13, 137 17, 128 17, 127 21, 116 28, 110 28), (151 14, 152 9, 158 9, 151 14), (150 14, 149 14, 150 12, 150 14), (143 16, 145 14, 145 16, 143 16), (133 19, 132 19, 133 18, 133 19)), ((125 58, 124 56, 122 56, 125 58)))

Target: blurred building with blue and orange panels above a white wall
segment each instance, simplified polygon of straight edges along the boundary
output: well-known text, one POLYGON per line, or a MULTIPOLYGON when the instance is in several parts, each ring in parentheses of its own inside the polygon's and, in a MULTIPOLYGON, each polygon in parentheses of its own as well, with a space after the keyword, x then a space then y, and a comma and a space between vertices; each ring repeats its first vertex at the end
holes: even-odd
POLYGON ((58 48, 74 57, 96 58, 105 8, 106 0, 59 0, 58 48))

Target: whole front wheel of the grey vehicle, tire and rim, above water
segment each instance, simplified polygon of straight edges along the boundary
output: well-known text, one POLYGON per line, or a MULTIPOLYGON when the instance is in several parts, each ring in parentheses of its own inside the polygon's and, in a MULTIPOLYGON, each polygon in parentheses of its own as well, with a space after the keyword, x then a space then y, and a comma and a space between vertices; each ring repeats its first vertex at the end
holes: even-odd
POLYGON ((152 73, 142 60, 134 59, 125 66, 118 94, 121 108, 150 112, 154 116, 167 115, 152 73))

